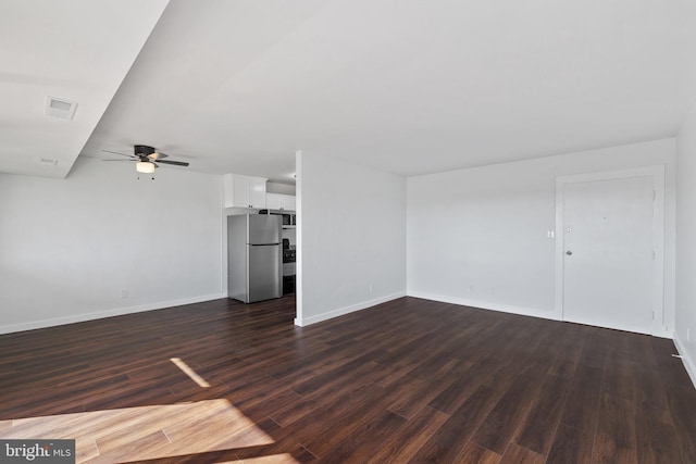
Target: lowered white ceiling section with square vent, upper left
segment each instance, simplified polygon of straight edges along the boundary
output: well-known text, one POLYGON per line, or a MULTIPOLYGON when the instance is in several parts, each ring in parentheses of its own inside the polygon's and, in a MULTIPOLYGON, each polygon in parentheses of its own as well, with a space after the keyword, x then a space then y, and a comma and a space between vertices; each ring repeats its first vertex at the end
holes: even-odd
POLYGON ((0 0, 0 173, 67 175, 165 5, 0 0), (48 96, 76 102, 73 121, 47 116, 48 96))

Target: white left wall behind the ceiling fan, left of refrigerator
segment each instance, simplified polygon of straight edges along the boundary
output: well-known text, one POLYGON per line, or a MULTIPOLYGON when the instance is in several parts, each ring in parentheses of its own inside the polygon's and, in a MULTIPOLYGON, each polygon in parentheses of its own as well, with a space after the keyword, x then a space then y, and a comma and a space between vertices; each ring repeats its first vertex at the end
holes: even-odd
POLYGON ((0 175, 0 333, 222 298, 221 211, 222 177, 174 168, 0 175))

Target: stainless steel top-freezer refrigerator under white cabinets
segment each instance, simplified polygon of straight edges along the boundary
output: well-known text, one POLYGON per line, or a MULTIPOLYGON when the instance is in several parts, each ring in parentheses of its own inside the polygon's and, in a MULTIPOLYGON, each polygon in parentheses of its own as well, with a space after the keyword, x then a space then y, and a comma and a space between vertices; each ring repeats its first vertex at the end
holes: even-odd
POLYGON ((283 296, 282 217, 227 216, 227 293, 253 303, 283 296))

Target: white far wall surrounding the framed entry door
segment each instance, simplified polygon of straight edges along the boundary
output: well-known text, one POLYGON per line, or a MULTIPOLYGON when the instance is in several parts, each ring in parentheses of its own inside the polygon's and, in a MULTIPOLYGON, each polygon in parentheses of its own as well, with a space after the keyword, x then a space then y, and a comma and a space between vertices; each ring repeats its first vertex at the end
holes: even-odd
POLYGON ((666 139, 407 180, 407 293, 560 318, 556 176, 666 164, 664 325, 674 328, 674 159, 666 139))

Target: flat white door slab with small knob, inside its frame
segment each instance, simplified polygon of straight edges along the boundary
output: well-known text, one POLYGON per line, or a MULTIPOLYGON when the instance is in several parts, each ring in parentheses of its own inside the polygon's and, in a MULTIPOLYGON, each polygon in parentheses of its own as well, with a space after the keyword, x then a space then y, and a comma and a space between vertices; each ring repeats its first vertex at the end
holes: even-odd
POLYGON ((563 319, 654 331, 652 176, 562 185, 563 319))

